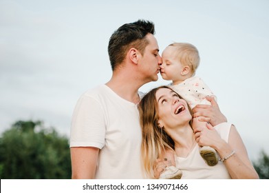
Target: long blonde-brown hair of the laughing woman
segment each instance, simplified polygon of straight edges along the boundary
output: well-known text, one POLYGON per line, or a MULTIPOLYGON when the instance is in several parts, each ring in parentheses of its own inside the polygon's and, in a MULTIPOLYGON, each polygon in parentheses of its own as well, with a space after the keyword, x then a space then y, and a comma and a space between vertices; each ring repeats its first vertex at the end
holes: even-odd
MULTIPOLYGON (((142 128, 142 163, 144 163, 143 166, 147 176, 151 179, 155 178, 153 165, 156 159, 160 158, 160 155, 166 149, 174 150, 175 146, 173 139, 166 134, 164 128, 160 128, 158 125, 158 104, 155 94, 160 88, 167 88, 175 92, 166 85, 153 88, 153 90, 144 95, 138 105, 140 125, 142 128)), ((182 99, 179 94, 177 95, 182 99)), ((191 112, 191 108, 189 110, 191 112)))

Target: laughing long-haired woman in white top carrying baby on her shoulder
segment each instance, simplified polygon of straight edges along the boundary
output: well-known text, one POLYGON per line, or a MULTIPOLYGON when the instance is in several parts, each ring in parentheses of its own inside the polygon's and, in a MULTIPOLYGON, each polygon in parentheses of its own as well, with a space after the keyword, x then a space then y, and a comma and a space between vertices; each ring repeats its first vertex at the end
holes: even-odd
POLYGON ((173 151, 182 179, 259 179, 235 126, 220 123, 213 128, 207 124, 208 130, 194 133, 191 109, 171 88, 151 90, 143 97, 139 110, 142 159, 149 178, 159 178, 167 161, 155 161, 163 158, 165 151, 173 151), (213 167, 206 165, 199 153, 200 145, 217 150, 221 161, 213 167))

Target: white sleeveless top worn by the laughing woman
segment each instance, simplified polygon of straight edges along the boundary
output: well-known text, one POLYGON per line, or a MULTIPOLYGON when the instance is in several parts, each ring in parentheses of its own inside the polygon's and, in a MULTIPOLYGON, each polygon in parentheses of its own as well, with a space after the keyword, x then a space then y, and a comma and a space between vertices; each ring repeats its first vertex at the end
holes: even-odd
MULTIPOLYGON (((227 143, 230 127, 230 123, 220 123, 214 127, 227 143)), ((175 165, 182 170, 181 179, 230 179, 230 174, 222 161, 218 161, 214 166, 205 163, 198 145, 195 145, 186 158, 175 156, 175 165)))

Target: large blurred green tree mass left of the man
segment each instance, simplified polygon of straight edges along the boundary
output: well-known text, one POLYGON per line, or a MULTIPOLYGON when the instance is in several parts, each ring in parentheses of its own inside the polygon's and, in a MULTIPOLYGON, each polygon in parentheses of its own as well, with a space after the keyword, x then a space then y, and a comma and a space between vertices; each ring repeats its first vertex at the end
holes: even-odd
POLYGON ((67 137, 41 121, 17 121, 0 138, 1 179, 70 179, 67 137))

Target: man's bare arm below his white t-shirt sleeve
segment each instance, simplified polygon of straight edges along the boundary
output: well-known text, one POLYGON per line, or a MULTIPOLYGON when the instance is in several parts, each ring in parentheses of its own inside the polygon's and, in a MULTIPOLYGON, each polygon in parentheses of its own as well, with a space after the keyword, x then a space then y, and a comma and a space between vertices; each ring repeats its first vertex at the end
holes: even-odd
POLYGON ((94 147, 70 148, 72 179, 94 179, 99 149, 94 147))

